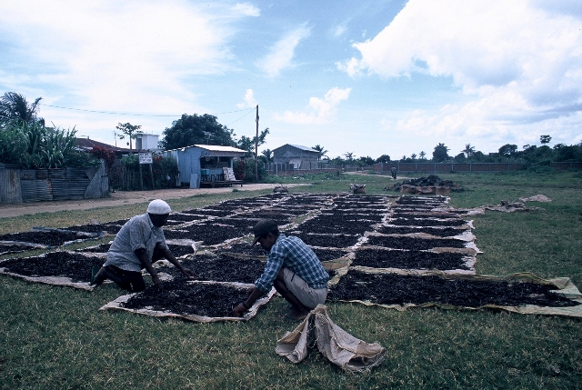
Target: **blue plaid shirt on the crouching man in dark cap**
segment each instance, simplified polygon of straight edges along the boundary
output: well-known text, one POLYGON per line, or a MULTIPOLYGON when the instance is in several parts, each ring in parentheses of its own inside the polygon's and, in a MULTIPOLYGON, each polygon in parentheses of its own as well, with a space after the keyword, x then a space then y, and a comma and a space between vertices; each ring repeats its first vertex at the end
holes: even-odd
POLYGON ((263 275, 255 281, 256 288, 268 293, 282 266, 296 273, 311 288, 327 287, 329 275, 311 248, 298 237, 281 234, 266 259, 263 275))

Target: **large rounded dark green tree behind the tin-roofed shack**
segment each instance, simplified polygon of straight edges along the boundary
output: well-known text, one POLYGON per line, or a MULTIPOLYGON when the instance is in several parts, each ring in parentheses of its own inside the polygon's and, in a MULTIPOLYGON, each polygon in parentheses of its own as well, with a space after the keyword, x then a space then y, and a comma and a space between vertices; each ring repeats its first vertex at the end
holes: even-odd
POLYGON ((170 127, 166 127, 162 134, 164 137, 159 142, 159 146, 166 150, 191 145, 206 145, 206 142, 209 145, 236 146, 233 139, 234 131, 226 125, 220 125, 216 121, 216 116, 208 114, 184 114, 180 119, 172 122, 170 127), (205 132, 211 136, 208 137, 205 132))

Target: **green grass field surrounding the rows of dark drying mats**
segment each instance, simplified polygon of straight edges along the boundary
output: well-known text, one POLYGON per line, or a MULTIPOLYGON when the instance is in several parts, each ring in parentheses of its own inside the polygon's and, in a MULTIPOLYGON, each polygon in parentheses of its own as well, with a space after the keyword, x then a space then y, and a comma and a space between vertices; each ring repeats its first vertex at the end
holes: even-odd
MULTIPOLYGON (((582 287, 582 175, 440 175, 465 186, 451 205, 497 205, 543 194, 528 204, 543 211, 487 212, 474 217, 477 274, 529 271, 570 277, 582 287)), ((345 192, 366 184, 367 194, 389 194, 379 175, 313 175, 282 182, 313 185, 294 192, 345 192)), ((399 178, 400 181, 400 178, 399 178)), ((169 201, 175 210, 232 197, 193 196, 169 201)), ((146 205, 68 211, 0 219, 0 234, 35 225, 65 227, 91 218, 113 221, 146 205)), ((93 245, 95 243, 91 243, 93 245)), ((276 340, 296 327, 277 297, 248 323, 196 324, 97 309, 121 295, 113 285, 94 292, 29 284, 0 276, 0 388, 2 389, 373 389, 582 388, 582 320, 480 310, 383 308, 330 303, 337 325, 386 347, 386 360, 361 375, 342 372, 311 353, 294 365, 275 354, 276 340)))

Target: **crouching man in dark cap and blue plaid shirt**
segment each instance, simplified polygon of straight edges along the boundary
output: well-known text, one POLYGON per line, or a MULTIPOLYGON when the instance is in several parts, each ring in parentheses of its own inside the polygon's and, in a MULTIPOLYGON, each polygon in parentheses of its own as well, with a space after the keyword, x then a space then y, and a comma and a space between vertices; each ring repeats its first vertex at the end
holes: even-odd
POLYGON ((265 271, 248 291, 235 315, 243 315, 256 300, 275 286, 290 304, 286 317, 303 320, 316 305, 326 302, 329 275, 316 254, 300 238, 279 233, 276 222, 263 219, 253 228, 255 241, 269 252, 265 271))

